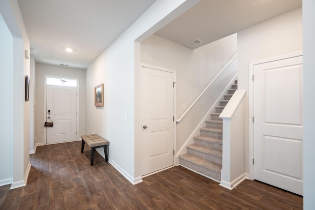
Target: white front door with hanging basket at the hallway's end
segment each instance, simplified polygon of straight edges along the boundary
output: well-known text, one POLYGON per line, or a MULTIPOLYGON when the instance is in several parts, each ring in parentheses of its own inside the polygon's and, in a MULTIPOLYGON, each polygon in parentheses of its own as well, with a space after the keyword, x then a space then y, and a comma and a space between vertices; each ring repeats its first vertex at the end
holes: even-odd
POLYGON ((77 140, 77 87, 47 85, 46 117, 54 122, 47 144, 77 140))

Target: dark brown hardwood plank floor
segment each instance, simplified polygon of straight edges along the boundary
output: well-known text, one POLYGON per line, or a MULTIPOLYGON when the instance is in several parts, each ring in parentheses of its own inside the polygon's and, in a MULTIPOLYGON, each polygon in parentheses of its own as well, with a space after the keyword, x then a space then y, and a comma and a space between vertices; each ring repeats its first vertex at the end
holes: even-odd
MULTIPOLYGON (((225 189, 181 166, 132 185, 81 142, 37 147, 27 186, 0 187, 1 210, 302 210, 303 198, 258 181, 225 189)), ((122 154, 123 155, 123 154, 122 154)))

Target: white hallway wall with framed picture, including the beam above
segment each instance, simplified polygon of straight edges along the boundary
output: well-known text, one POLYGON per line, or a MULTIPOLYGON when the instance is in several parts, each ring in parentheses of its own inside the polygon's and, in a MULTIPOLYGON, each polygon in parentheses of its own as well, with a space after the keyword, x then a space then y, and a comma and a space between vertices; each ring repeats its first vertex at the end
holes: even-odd
POLYGON ((156 1, 87 69, 86 133, 97 133, 110 142, 109 162, 133 183, 141 180, 140 45, 137 42, 198 1, 156 1), (105 87, 104 107, 96 108, 94 87, 100 83, 105 87))

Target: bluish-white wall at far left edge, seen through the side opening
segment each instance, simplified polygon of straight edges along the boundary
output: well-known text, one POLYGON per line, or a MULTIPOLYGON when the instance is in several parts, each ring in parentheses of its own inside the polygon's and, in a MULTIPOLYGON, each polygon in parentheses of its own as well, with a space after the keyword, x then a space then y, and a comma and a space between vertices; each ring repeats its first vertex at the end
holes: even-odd
POLYGON ((0 83, 0 186, 12 182, 13 158, 13 38, 0 15, 0 63, 2 82, 0 83))

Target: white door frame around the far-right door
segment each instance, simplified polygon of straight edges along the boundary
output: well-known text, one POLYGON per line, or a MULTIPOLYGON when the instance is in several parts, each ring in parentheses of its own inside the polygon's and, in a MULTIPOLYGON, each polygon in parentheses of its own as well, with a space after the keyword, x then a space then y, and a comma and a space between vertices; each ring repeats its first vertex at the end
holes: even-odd
POLYGON ((282 56, 276 56, 276 57, 272 57, 272 58, 268 58, 268 59, 262 59, 262 60, 255 60, 255 61, 251 61, 249 63, 249 179, 253 180, 254 179, 254 167, 252 164, 252 160, 254 158, 254 126, 253 126, 253 122, 252 122, 252 118, 253 118, 253 113, 254 113, 254 109, 253 109, 253 81, 252 81, 252 75, 253 75, 253 70, 254 70, 254 65, 258 65, 261 63, 266 63, 266 62, 272 62, 272 61, 276 61, 276 60, 284 60, 284 59, 289 59, 289 58, 293 58, 293 57, 298 57, 298 56, 303 56, 303 51, 298 51, 295 53, 289 53, 289 54, 284 54, 282 56))

